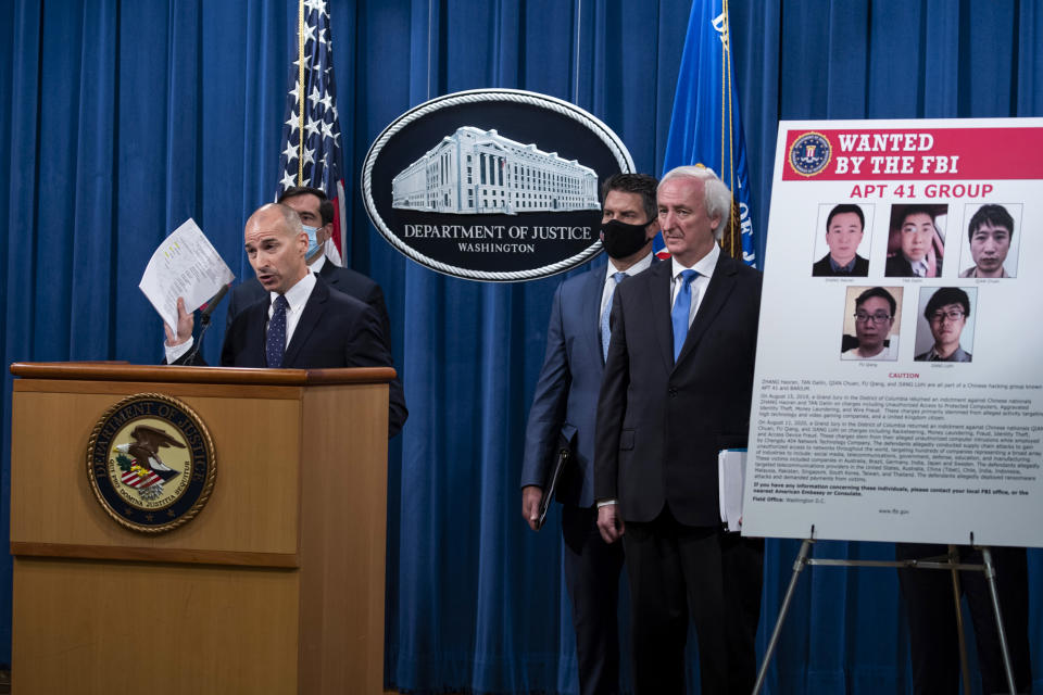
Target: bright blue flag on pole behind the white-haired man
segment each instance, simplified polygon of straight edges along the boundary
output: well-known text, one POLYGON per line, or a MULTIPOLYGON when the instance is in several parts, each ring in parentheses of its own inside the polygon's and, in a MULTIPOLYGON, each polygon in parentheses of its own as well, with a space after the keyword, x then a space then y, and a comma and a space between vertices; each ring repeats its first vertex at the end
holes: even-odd
MULTIPOLYGON (((714 169, 731 190, 733 201, 721 245, 755 266, 746 141, 729 41, 728 0, 693 0, 663 173, 684 164, 714 169)), ((662 235, 655 239, 655 252, 661 257, 665 253, 662 235)))

